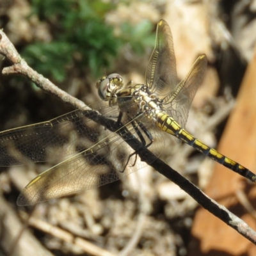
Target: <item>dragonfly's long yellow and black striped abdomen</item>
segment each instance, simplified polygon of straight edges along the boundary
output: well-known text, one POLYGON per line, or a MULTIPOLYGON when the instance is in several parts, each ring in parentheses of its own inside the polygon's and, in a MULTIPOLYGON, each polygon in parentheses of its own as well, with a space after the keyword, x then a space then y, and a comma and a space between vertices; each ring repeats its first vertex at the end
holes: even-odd
POLYGON ((193 135, 189 134, 189 132, 180 127, 180 125, 175 122, 175 120, 169 115, 165 113, 158 113, 156 126, 162 131, 168 132, 169 134, 172 134, 173 136, 186 142, 188 145, 195 148, 205 156, 211 157, 211 159, 213 159, 214 161, 256 183, 256 175, 254 173, 252 173, 250 170, 237 163, 236 161, 233 161, 232 159, 223 156, 214 148, 210 148, 202 143, 202 141, 196 139, 193 135))

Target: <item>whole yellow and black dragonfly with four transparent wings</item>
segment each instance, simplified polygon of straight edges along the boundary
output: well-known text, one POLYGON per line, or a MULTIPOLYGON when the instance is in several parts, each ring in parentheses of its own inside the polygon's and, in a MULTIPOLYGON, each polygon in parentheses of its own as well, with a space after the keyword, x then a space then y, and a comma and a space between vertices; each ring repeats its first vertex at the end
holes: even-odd
POLYGON ((135 138, 159 157, 164 150, 163 132, 255 183, 254 173, 184 129, 206 67, 202 54, 178 81, 172 33, 167 22, 160 20, 145 84, 125 84, 119 74, 103 76, 97 82, 102 100, 90 109, 0 132, 0 166, 62 159, 31 180, 17 204, 36 204, 122 179, 145 165, 137 164, 138 151, 129 140, 135 138), (104 121, 99 122, 100 117, 104 121))

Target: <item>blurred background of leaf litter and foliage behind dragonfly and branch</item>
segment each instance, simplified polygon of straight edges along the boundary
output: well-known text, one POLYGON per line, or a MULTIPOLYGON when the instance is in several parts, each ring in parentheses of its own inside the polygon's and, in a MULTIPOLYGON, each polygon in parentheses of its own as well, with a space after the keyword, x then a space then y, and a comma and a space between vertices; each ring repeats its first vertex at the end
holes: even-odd
MULTIPOLYGON (((255 17, 256 1, 253 0, 0 1, 0 28, 22 58, 38 73, 86 104, 99 100, 95 83, 104 74, 118 73, 126 82, 132 79, 136 83, 144 83, 145 69, 154 48, 157 22, 166 20, 172 30, 180 80, 186 76, 198 55, 207 55, 207 72, 193 100, 186 129, 214 148, 218 148, 219 141, 223 140, 223 131, 228 132, 226 124, 232 109, 232 115, 236 115, 234 106, 240 106, 236 105, 236 99, 242 90, 246 67, 253 65, 255 17)), ((0 61, 1 69, 10 65, 8 60, 1 58, 0 61)), ((256 66, 253 67, 256 70, 256 66)), ((254 95, 253 86, 246 88, 244 92, 254 95)), ((254 104, 246 97, 239 98, 242 106, 248 101, 254 104)), ((28 79, 2 74, 0 102, 1 131, 44 122, 74 110, 42 92, 28 79)), ((253 105, 244 108, 247 108, 243 112, 244 118, 255 109, 253 105)), ((221 153, 241 161, 255 172, 254 157, 252 163, 243 159, 256 147, 253 120, 247 117, 236 125, 228 126, 234 134, 233 140, 239 141, 238 127, 248 125, 248 131, 253 134, 244 132, 245 137, 238 143, 243 146, 249 143, 251 148, 243 150, 242 146, 234 146, 231 140, 222 143, 221 153), (236 150, 237 158, 236 154, 228 154, 228 148, 236 150)), ((236 182, 236 178, 214 174, 214 161, 188 145, 177 143, 170 138, 172 136, 164 136, 168 150, 164 150, 161 159, 201 189, 218 190, 217 198, 229 198, 228 206, 233 207, 232 212, 238 211, 241 217, 245 214, 246 220, 255 225, 253 206, 245 206, 250 204, 250 200, 256 202, 256 192, 250 184, 241 178, 241 188, 240 180, 236 182), (238 185, 232 185, 232 191, 227 191, 230 184, 238 185), (225 195, 221 188, 226 189, 225 195), (239 197, 239 193, 243 196, 239 197), (247 198, 247 195, 251 197, 247 198)), ((15 239, 19 244, 19 239, 26 236, 30 240, 24 239, 24 249, 15 255, 255 253, 252 244, 231 228, 228 229, 228 237, 225 236, 225 228, 228 228, 225 223, 220 223, 220 233, 214 227, 208 227, 209 218, 215 217, 203 214, 199 218, 200 207, 195 200, 151 168, 139 170, 125 180, 102 188, 51 200, 35 208, 17 207, 20 189, 36 173, 49 167, 51 165, 46 163, 1 168, 0 208, 9 211, 10 216, 12 212, 13 221, 5 222, 5 215, 1 212, 0 255, 9 255, 15 239), (14 223, 16 228, 12 226, 14 223), (203 226, 200 226, 202 223, 203 226), (51 228, 46 230, 47 225, 51 228), (59 228, 60 233, 53 232, 53 227, 59 228), (28 229, 29 234, 26 233, 28 229), (20 230, 25 231, 17 238, 20 230), (84 244, 77 244, 75 239, 68 240, 68 236, 63 234, 78 237, 83 243, 90 242, 95 246, 94 251, 85 249, 84 244), (4 237, 8 237, 8 243, 4 237), (31 245, 34 243, 39 246, 35 247, 36 251, 31 245), (234 244, 239 249, 234 248, 234 244), (106 252, 100 251, 100 248, 106 252), (30 252, 26 251, 28 249, 31 249, 30 252)), ((231 173, 227 168, 223 172, 231 173)), ((212 191, 208 190, 207 194, 214 197, 215 192, 212 191)), ((217 224, 214 226, 217 227, 217 224)))

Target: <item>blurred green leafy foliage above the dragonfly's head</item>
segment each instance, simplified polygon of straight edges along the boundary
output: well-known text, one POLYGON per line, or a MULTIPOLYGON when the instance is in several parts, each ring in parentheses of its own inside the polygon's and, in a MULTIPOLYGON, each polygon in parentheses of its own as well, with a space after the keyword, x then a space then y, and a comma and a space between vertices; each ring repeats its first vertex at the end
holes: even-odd
POLYGON ((68 68, 90 68, 93 76, 102 74, 109 67, 125 44, 131 44, 136 52, 153 45, 149 22, 141 22, 136 28, 120 24, 122 35, 116 37, 113 28, 104 23, 104 16, 116 6, 102 0, 31 0, 33 13, 49 24, 51 42, 28 45, 22 56, 29 65, 44 76, 63 81, 68 68))

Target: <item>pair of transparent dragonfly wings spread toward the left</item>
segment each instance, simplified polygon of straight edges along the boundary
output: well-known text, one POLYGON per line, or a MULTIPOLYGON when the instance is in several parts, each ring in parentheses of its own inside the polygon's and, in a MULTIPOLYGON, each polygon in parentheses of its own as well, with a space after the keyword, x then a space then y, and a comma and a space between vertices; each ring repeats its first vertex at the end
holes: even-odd
MULTIPOLYGON (((128 111, 125 108, 123 110, 128 111)), ((117 106, 104 106, 97 111, 79 109, 49 122, 1 132, 2 165, 29 163, 31 160, 45 161, 51 157, 56 159, 56 155, 60 159, 69 156, 29 182, 20 193, 17 204, 36 204, 50 198, 96 188, 145 166, 145 163, 136 161, 135 155, 130 157, 134 152, 132 148, 113 132, 120 129, 111 126, 119 112, 117 106), (107 122, 111 131, 97 122, 99 112, 109 118, 107 122), (131 167, 135 162, 136 166, 131 167)), ((140 122, 143 122, 144 118, 142 117, 140 122)), ((135 120, 136 118, 136 125, 135 120)), ((146 143, 150 142, 147 134, 141 131, 138 125, 135 131, 134 124, 132 125, 126 115, 122 117, 122 124, 125 124, 125 131, 131 132, 135 138, 141 141, 143 136, 146 143), (138 133, 138 130, 141 133, 138 133)), ((150 146, 150 150, 157 155, 161 154, 164 144, 163 140, 159 139, 161 133, 154 132, 155 125, 150 122, 145 122, 144 126, 157 141, 150 146)))

